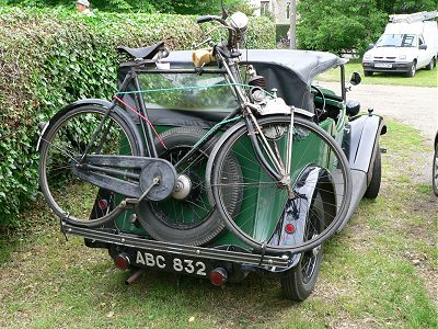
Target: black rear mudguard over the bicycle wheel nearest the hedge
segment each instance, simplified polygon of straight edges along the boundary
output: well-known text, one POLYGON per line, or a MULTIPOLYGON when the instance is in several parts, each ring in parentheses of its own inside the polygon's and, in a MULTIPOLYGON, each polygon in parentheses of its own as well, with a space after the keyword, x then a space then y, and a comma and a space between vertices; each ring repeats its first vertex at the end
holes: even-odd
MULTIPOLYGON (((46 131, 50 125, 53 125, 66 112, 71 111, 72 109, 76 109, 79 106, 83 106, 83 105, 93 105, 93 106, 101 106, 101 107, 108 109, 108 107, 113 106, 113 103, 107 100, 101 100, 101 99, 83 99, 83 100, 72 102, 72 103, 68 104, 67 106, 62 107, 50 118, 50 121, 48 123, 46 123, 44 125, 43 131, 38 138, 38 143, 36 145, 36 150, 39 152, 43 137, 45 136, 46 131)), ((132 122, 132 120, 129 117, 129 115, 120 107, 115 106, 114 112, 116 112, 122 117, 122 120, 124 120, 125 123, 128 126, 130 126, 130 128, 132 129, 132 132, 135 134, 135 138, 139 141, 138 146, 139 146, 139 150, 140 150, 140 156, 143 156, 145 155, 145 145, 142 143, 142 138, 140 136, 140 133, 139 133, 136 124, 132 122)))

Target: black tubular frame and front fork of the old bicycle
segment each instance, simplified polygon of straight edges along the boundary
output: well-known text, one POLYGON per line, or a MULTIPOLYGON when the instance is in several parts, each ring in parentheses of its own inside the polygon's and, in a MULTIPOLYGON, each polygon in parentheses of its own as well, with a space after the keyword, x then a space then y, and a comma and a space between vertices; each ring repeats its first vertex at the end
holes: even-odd
MULTIPOLYGON (((81 161, 87 157, 90 146, 95 141, 95 138, 100 131, 102 129, 104 122, 106 121, 108 113, 111 111, 114 111, 115 106, 117 104, 123 104, 126 107, 128 107, 130 111, 136 113, 141 120, 140 120, 140 127, 142 135, 145 136, 145 146, 147 150, 147 155, 151 158, 158 158, 157 154, 157 148, 153 143, 153 125, 151 121, 149 120, 148 115, 148 110, 145 104, 143 98, 140 95, 140 81, 138 78, 139 73, 221 73, 224 76, 226 80, 229 82, 230 88, 238 101, 239 106, 234 109, 232 112, 230 112, 221 122, 216 124, 212 128, 210 128, 201 139, 199 139, 198 143, 196 143, 193 148, 185 155, 183 158, 175 163, 175 169, 177 170, 178 166, 183 162, 185 162, 188 158, 191 158, 195 152, 197 152, 206 143, 208 143, 219 131, 223 128, 224 125, 231 123, 231 122, 239 122, 240 120, 244 118, 246 128, 249 131, 249 135, 251 137, 251 143, 252 146, 256 152, 257 160, 262 163, 262 166, 265 168, 266 172, 274 178, 275 180, 279 181, 284 185, 289 185, 289 168, 290 168, 290 156, 287 156, 287 162, 288 163, 281 163, 280 160, 277 158, 275 151, 272 149, 270 145, 266 140, 261 127, 257 124, 257 118, 255 117, 253 110, 256 107, 251 103, 249 97, 246 95, 246 92, 244 91, 241 82, 241 77, 239 73, 238 69, 238 60, 232 59, 232 58, 224 58, 220 53, 217 54, 218 56, 218 61, 223 66, 223 69, 160 69, 160 70, 154 70, 154 69, 146 69, 143 68, 143 65, 146 63, 154 63, 153 60, 145 60, 139 64, 136 64, 131 67, 129 72, 126 75, 119 91, 116 93, 114 97, 114 100, 112 102, 112 106, 107 109, 106 114, 102 118, 102 122, 99 124, 96 129, 93 132, 93 135, 91 137, 89 146, 85 148, 84 154, 81 157, 81 161), (134 82, 136 92, 135 92, 135 102, 136 106, 138 107, 138 111, 130 106, 129 104, 125 103, 123 99, 118 97, 118 94, 124 94, 130 83, 134 82), (260 136, 261 139, 257 138, 260 136), (263 150, 265 150, 265 154, 263 150), (267 157, 269 161, 275 166, 275 168, 272 168, 272 166, 268 163, 266 160, 267 157)), ((291 115, 291 125, 292 125, 292 115, 291 115)), ((134 124, 134 123, 132 123, 134 124)), ((107 128, 108 129, 108 128, 107 128)), ((104 134, 105 136, 105 134, 104 134)), ((104 137, 105 138, 105 137, 104 137)), ((288 138, 288 150, 291 149, 291 143, 292 143, 292 129, 290 129, 289 138, 288 138)), ((143 143, 143 141, 140 141, 143 143)), ((289 151, 288 151, 289 152, 289 151)), ((105 171, 105 169, 103 170, 105 171)))

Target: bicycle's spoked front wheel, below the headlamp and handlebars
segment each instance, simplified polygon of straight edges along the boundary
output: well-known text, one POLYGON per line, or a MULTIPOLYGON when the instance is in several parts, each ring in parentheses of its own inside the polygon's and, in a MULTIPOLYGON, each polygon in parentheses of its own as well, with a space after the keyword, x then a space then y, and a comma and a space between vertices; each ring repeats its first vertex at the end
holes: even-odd
MULTIPOLYGON (((287 145, 291 134, 290 116, 270 116, 260 120, 265 140, 278 162, 287 161, 287 145)), ((261 134, 255 134, 263 157, 274 168, 261 134)), ((224 134, 209 161, 208 175, 212 201, 226 225, 238 238, 258 252, 303 252, 321 245, 332 236, 346 215, 350 202, 351 178, 343 150, 321 127, 309 120, 296 117, 292 131, 292 150, 289 180, 283 182, 268 174, 257 160, 251 134, 242 125, 224 134), (241 177, 228 172, 224 159, 233 156, 241 167, 241 177), (231 178, 231 179, 230 179, 231 178), (226 201, 230 186, 239 188, 242 198, 237 214, 228 209, 226 201), (308 220, 311 201, 315 194, 323 198, 324 229, 308 220)))

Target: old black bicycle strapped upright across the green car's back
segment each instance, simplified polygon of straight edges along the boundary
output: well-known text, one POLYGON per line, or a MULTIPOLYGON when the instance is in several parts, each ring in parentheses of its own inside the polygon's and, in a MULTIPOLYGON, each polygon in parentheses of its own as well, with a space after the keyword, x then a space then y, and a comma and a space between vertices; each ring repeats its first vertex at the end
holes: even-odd
POLYGON ((316 250, 336 231, 350 202, 348 161, 311 114, 265 91, 253 67, 243 80, 242 15, 197 20, 219 22, 229 36, 194 69, 148 69, 169 55, 163 43, 122 47, 136 60, 113 102, 76 102, 50 120, 38 146, 39 183, 61 220, 102 227, 134 209, 132 223, 157 240, 206 245, 227 227, 262 254, 316 250), (139 97, 139 73, 220 73, 238 106, 208 132, 159 134, 139 97), (135 94, 135 106, 126 93, 135 94), (122 107, 141 118, 139 127, 122 107), (198 204, 200 214, 187 211, 198 204))

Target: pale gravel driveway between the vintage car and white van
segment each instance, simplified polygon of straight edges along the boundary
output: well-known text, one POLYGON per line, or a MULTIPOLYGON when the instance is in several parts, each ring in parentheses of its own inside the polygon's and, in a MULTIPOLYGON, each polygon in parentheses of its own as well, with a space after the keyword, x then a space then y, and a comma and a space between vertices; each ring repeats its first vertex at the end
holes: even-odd
MULTIPOLYGON (((321 84, 333 90, 338 88, 335 82, 321 84)), ((347 99, 359 101, 362 110, 371 107, 374 114, 412 125, 430 139, 430 144, 435 138, 438 128, 437 88, 359 84, 351 88, 347 99)))

